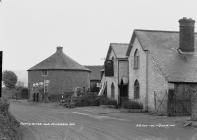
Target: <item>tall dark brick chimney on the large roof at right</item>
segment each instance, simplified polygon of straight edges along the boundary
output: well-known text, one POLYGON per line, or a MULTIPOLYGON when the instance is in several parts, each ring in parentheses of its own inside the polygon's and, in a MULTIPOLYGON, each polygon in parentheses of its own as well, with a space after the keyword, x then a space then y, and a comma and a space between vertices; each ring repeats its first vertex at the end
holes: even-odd
POLYGON ((191 18, 183 17, 179 20, 179 50, 183 53, 194 52, 194 23, 195 20, 191 18))

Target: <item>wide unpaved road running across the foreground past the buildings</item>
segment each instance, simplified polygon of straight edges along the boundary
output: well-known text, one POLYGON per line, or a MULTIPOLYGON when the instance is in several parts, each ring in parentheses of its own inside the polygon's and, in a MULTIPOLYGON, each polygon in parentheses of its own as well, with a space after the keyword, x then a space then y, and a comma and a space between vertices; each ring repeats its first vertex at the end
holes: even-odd
POLYGON ((100 107, 65 109, 54 104, 28 102, 11 102, 9 111, 21 122, 23 140, 197 139, 196 128, 181 125, 185 117, 120 113, 100 107))

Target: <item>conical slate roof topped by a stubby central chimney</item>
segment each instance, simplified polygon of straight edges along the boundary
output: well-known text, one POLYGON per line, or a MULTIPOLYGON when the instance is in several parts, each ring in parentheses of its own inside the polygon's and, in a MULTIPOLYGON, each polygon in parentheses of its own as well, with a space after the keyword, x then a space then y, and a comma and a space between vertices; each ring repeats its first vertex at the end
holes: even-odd
POLYGON ((41 69, 90 71, 88 68, 80 65, 75 60, 64 54, 62 47, 57 47, 57 51, 53 55, 31 67, 28 71, 41 69))

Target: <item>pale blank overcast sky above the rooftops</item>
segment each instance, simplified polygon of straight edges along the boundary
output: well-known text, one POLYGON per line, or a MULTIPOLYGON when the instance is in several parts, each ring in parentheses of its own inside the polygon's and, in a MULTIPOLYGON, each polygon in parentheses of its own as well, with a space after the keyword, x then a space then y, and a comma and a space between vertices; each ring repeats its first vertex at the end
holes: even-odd
POLYGON ((27 70, 63 46, 82 65, 101 65, 110 42, 128 43, 134 29, 179 30, 197 20, 195 0, 3 0, 3 69, 27 70))

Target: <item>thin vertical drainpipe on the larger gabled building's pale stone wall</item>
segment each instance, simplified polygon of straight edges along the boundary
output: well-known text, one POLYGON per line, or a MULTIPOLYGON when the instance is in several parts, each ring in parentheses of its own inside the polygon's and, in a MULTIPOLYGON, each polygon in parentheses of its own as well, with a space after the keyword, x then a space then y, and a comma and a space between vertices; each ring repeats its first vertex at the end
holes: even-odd
POLYGON ((148 67, 149 67, 149 63, 148 63, 148 53, 149 51, 146 50, 146 97, 145 97, 145 111, 148 112, 148 87, 149 87, 149 82, 148 82, 148 67))

